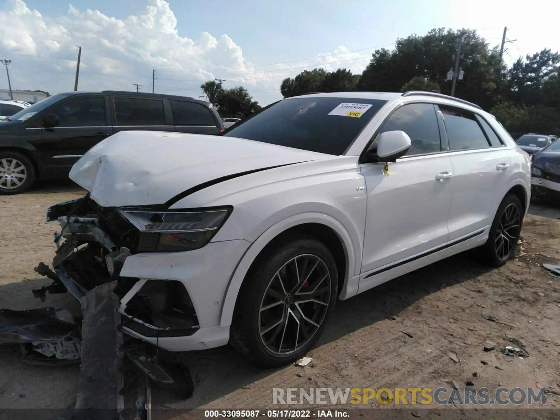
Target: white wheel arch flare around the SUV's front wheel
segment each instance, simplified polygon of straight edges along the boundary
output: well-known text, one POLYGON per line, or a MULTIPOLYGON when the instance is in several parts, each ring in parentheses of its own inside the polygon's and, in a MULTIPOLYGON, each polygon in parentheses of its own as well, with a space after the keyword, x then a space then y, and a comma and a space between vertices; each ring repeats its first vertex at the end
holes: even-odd
MULTIPOLYGON (((354 268, 357 264, 361 264, 361 258, 356 258, 356 255, 361 256, 361 250, 356 250, 356 244, 353 243, 351 234, 347 229, 336 220, 334 217, 328 214, 318 213, 318 212, 307 212, 295 214, 293 216, 284 218, 283 220, 277 222, 275 225, 269 227, 263 232, 254 242, 251 244, 249 249, 242 256, 241 261, 237 264, 237 267, 230 278, 230 283, 227 286, 226 295, 223 299, 222 310, 220 314, 220 326, 231 325, 235 302, 237 301, 237 294, 241 288, 241 283, 245 279, 251 264, 255 260, 256 256, 259 255, 260 251, 276 236, 281 234, 283 231, 288 230, 291 227, 302 225, 304 223, 319 223, 321 225, 328 226, 334 230, 342 244, 344 246, 344 252, 346 254, 347 268, 346 268, 346 279, 354 276, 354 268), (356 252, 358 251, 358 252, 356 252)), ((359 245, 357 245, 359 248, 359 245)))

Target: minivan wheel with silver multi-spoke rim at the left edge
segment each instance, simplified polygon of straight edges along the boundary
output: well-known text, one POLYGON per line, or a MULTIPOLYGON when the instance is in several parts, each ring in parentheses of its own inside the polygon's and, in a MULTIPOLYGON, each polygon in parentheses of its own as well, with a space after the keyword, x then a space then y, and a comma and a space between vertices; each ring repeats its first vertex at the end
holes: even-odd
POLYGON ((35 167, 25 155, 0 150, 0 194, 20 194, 35 181, 35 167))

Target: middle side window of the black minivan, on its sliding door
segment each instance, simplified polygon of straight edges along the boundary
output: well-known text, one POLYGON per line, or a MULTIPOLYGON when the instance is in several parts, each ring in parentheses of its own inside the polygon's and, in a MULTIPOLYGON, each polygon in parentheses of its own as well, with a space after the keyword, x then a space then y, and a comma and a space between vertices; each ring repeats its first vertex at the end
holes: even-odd
POLYGON ((115 97, 116 125, 165 125, 161 99, 115 97))

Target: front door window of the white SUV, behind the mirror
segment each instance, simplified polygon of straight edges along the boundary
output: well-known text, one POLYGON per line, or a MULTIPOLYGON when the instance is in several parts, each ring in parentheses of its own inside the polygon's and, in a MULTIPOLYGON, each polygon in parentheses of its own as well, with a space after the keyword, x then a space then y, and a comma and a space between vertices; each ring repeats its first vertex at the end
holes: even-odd
POLYGON ((441 152, 440 129, 432 104, 408 104, 397 109, 381 126, 380 133, 401 130, 410 137, 405 156, 441 152))

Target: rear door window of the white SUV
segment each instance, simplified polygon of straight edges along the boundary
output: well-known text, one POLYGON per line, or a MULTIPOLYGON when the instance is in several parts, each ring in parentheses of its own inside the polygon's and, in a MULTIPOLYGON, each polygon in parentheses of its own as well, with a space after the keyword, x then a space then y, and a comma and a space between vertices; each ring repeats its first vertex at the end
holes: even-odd
POLYGON ((490 147, 473 113, 458 108, 441 106, 444 114, 449 150, 483 149, 490 147))

